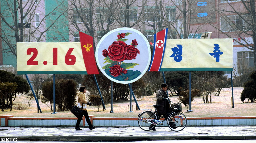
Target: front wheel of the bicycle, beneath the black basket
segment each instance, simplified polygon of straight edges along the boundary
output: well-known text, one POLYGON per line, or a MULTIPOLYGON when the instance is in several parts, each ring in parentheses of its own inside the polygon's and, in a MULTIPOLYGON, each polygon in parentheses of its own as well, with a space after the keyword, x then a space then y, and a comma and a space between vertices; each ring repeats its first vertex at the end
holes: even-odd
POLYGON ((167 119, 167 124, 172 131, 181 131, 187 125, 187 118, 183 113, 173 113, 167 119))

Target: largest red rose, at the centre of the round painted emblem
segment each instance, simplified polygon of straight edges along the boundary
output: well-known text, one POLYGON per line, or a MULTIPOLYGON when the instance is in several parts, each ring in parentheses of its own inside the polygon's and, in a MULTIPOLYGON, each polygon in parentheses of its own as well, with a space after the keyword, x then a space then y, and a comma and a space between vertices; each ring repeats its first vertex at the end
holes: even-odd
POLYGON ((108 47, 108 56, 110 60, 121 62, 125 60, 127 53, 127 45, 123 41, 114 41, 108 47))

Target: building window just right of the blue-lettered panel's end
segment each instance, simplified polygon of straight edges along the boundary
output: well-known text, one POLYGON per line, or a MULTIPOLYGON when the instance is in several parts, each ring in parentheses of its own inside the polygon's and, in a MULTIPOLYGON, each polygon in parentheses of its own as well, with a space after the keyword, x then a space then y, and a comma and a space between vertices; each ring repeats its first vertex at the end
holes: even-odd
POLYGON ((254 67, 254 59, 253 59, 253 52, 246 51, 246 52, 237 52, 237 59, 238 59, 238 67, 241 68, 250 68, 254 67))

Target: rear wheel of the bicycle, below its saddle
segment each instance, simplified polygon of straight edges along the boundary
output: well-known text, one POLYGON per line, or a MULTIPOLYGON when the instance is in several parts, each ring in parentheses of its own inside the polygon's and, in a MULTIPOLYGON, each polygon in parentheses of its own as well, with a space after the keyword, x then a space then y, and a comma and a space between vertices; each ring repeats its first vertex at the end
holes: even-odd
POLYGON ((138 118, 138 122, 139 122, 139 126, 141 129, 143 129, 144 131, 149 131, 151 130, 153 127, 155 127, 156 125, 152 125, 150 123, 148 123, 149 119, 157 119, 156 115, 151 112, 151 111, 145 111, 143 113, 141 113, 141 115, 139 115, 138 118))

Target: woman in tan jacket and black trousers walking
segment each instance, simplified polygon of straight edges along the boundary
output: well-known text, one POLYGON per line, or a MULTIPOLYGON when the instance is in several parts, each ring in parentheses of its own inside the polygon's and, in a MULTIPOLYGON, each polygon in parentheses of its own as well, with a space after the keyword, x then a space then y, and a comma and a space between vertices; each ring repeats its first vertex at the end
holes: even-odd
POLYGON ((79 124, 80 124, 80 122, 81 122, 81 120, 82 120, 82 118, 83 118, 83 115, 84 115, 84 117, 85 117, 85 119, 86 119, 86 122, 87 122, 88 125, 89 125, 89 129, 90 129, 90 130, 95 129, 96 127, 95 127, 95 126, 92 126, 92 123, 91 123, 91 121, 90 121, 90 119, 89 119, 88 112, 87 112, 87 110, 86 110, 86 104, 87 104, 87 105, 90 105, 90 106, 92 105, 89 101, 86 100, 86 96, 85 96, 86 89, 85 89, 84 86, 82 86, 82 87, 80 87, 79 91, 80 91, 80 92, 77 92, 77 96, 78 96, 78 105, 77 105, 77 107, 78 107, 79 109, 83 110, 83 111, 82 111, 81 117, 79 117, 79 118, 77 119, 76 130, 77 130, 77 131, 81 131, 81 130, 82 130, 82 129, 80 129, 79 124))

